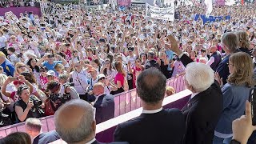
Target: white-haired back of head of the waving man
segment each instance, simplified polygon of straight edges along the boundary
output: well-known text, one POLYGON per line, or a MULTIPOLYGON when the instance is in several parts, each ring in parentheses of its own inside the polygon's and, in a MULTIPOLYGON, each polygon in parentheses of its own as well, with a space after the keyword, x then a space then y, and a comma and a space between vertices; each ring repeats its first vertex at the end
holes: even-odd
POLYGON ((185 79, 194 91, 199 93, 214 83, 214 70, 201 62, 191 62, 186 66, 185 79))

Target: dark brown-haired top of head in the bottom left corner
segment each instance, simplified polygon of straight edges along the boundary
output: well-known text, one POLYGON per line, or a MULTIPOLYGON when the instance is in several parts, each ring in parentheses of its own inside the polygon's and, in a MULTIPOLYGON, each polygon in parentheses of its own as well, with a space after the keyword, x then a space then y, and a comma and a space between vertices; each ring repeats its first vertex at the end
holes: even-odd
POLYGON ((31 144, 29 134, 24 132, 14 132, 7 135, 5 138, 0 139, 1 144, 31 144))

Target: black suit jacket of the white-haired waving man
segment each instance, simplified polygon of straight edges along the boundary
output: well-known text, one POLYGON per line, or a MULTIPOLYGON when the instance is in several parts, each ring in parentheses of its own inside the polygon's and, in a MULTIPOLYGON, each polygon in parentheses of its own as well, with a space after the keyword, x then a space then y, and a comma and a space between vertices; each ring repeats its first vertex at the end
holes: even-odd
POLYGON ((183 143, 210 144, 214 129, 222 114, 222 91, 214 83, 207 90, 191 98, 182 113, 186 118, 186 134, 183 143))

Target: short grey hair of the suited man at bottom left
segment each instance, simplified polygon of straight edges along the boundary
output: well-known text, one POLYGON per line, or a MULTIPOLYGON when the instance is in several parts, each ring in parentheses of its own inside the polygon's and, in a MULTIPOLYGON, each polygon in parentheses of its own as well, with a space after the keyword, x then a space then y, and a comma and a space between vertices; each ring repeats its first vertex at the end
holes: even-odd
POLYGON ((42 123, 38 118, 27 118, 25 126, 28 130, 31 130, 34 132, 40 132, 42 123))

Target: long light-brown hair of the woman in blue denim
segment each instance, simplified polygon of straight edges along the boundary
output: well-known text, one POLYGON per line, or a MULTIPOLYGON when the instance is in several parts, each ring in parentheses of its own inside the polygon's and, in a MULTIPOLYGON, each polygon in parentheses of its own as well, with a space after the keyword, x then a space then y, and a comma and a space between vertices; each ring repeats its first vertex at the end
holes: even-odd
POLYGON ((227 82, 237 86, 253 86, 254 64, 250 55, 244 52, 238 52, 230 55, 230 63, 233 65, 233 71, 227 82))

